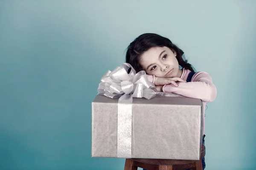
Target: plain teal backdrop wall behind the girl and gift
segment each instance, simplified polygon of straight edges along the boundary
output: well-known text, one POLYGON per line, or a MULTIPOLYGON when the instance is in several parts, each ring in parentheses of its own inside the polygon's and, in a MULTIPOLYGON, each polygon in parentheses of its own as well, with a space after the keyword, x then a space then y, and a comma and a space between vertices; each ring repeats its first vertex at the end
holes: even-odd
POLYGON ((91 158, 91 101, 145 32, 217 87, 206 170, 256 170, 255 16, 255 0, 1 0, 0 170, 122 170, 124 159, 91 158))

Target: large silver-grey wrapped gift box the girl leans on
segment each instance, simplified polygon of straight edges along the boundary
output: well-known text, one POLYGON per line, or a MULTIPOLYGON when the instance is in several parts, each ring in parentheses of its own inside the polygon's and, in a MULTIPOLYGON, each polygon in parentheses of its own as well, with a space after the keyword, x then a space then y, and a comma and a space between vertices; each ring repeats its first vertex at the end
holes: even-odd
POLYGON ((92 102, 92 157, 200 159, 200 99, 133 98, 131 109, 131 121, 125 121, 118 115, 118 98, 96 96, 92 102), (129 128, 130 137, 123 137, 129 128))

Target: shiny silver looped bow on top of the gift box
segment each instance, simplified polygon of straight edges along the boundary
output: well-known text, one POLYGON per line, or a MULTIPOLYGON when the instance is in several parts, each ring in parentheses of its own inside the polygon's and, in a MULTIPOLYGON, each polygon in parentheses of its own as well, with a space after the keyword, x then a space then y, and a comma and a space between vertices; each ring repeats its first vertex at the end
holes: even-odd
POLYGON ((108 98, 119 98, 119 102, 128 100, 127 98, 151 99, 156 95, 155 86, 149 82, 145 71, 136 74, 134 68, 123 63, 112 72, 108 70, 101 79, 98 87, 100 95, 108 98), (131 69, 128 74, 128 70, 131 69))

